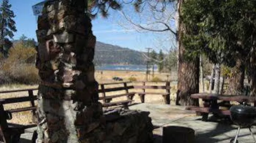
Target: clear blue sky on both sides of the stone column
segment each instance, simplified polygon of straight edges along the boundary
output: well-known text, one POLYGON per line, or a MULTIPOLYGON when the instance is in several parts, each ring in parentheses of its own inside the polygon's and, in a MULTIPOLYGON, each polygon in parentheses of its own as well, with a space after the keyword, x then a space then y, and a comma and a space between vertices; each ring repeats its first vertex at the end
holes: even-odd
MULTIPOLYGON (((35 35, 37 21, 33 15, 32 5, 41 1, 43 0, 9 0, 9 3, 12 4, 11 9, 16 14, 14 21, 18 31, 14 33, 14 39, 19 39, 24 34, 28 38, 37 40, 35 35)), ((140 22, 141 25, 148 24, 147 20, 152 20, 152 16, 148 15, 147 12, 147 18, 141 20, 141 17, 134 12, 131 6, 124 7, 123 11, 128 12, 127 15, 132 20, 140 22)), ((92 20, 93 34, 97 41, 140 51, 146 51, 146 48, 150 47, 156 51, 162 49, 167 52, 173 47, 174 41, 170 40, 170 32, 146 32, 137 28, 134 29, 134 26, 119 11, 110 10, 109 14, 107 19, 98 15, 92 20)), ((173 26, 173 23, 170 25, 173 26)), ((161 28, 161 26, 163 25, 157 28, 161 28)))

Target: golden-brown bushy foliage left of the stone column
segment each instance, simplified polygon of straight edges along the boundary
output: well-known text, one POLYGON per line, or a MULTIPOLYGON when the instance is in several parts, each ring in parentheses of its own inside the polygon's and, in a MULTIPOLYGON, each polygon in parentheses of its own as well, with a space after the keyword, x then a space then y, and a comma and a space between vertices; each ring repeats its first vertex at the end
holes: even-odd
POLYGON ((37 84, 36 50, 17 43, 9 50, 7 59, 0 59, 0 84, 37 84))

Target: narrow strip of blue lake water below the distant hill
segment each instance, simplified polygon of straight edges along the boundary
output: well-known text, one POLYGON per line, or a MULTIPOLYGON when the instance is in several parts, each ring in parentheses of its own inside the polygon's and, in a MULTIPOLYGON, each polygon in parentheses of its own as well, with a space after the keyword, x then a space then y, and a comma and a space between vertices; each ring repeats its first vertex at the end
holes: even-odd
MULTIPOLYGON (((102 65, 95 68, 96 70, 109 71, 146 71, 146 65, 102 65)), ((152 66, 149 70, 152 71, 152 66)), ((154 65, 154 71, 157 71, 157 65, 154 65)))

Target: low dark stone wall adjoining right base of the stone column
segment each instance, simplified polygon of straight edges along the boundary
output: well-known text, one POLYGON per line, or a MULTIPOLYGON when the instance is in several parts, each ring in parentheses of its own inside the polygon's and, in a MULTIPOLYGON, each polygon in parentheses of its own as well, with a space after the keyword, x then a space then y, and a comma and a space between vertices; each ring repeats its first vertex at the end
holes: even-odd
POLYGON ((84 140, 88 143, 152 143, 153 125, 149 114, 129 109, 108 110, 102 125, 96 125, 84 140))

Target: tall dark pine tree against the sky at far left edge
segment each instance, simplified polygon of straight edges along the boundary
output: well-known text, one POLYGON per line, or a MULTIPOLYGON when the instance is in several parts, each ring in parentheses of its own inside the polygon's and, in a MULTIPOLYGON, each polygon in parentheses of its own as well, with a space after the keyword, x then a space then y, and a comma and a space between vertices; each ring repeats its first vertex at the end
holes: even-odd
POLYGON ((16 25, 13 18, 15 17, 13 11, 10 9, 12 4, 9 0, 3 0, 0 7, 0 53, 4 57, 8 56, 8 51, 13 43, 9 39, 13 39, 13 32, 16 32, 16 25))

